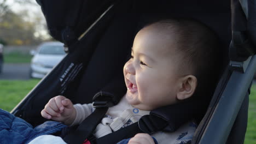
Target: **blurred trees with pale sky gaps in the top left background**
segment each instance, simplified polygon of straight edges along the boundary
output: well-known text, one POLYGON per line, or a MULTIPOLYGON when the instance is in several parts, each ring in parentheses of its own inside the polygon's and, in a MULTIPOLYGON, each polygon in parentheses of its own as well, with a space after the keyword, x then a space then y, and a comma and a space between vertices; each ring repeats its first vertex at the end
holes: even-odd
MULTIPOLYGON (((36 4, 31 0, 15 0, 15 2, 26 5, 36 4)), ((46 33, 45 29, 44 17, 40 14, 31 17, 27 9, 14 13, 8 7, 7 0, 0 0, 1 41, 11 45, 38 44, 45 39, 46 34, 41 33, 46 33)))

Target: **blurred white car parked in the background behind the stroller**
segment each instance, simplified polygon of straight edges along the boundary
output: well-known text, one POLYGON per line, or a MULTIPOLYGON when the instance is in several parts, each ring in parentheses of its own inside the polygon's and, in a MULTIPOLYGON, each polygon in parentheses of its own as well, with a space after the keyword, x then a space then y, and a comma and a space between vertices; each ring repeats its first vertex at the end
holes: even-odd
POLYGON ((31 59, 30 76, 42 79, 66 56, 63 43, 45 42, 40 44, 36 51, 31 51, 34 55, 31 59))

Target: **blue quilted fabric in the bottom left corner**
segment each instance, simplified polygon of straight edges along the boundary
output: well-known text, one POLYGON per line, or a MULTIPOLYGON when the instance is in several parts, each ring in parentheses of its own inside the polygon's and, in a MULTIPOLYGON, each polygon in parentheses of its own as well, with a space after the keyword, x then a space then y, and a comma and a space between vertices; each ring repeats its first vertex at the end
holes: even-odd
POLYGON ((11 113, 0 109, 0 142, 5 143, 28 143, 40 135, 49 135, 60 131, 66 125, 47 121, 33 128, 31 124, 11 113))

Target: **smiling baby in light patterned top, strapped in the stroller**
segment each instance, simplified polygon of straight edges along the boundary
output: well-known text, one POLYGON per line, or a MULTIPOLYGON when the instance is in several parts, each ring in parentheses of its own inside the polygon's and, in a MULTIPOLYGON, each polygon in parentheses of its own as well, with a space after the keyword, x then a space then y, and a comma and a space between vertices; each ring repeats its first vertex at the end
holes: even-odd
MULTIPOLYGON (((110 107, 94 135, 107 135, 137 122, 151 110, 185 99, 194 98, 207 104, 210 88, 214 87, 219 75, 219 70, 214 69, 220 64, 215 58, 218 49, 218 37, 194 20, 162 20, 142 28, 133 41, 131 58, 124 65, 127 92, 118 105, 110 107), (213 71, 214 75, 209 76, 213 71), (114 127, 119 120, 123 125, 114 127)), ((41 114, 47 119, 76 125, 93 110, 91 104, 73 105, 71 100, 57 96, 49 100, 41 114)), ((185 143, 191 141, 194 131, 190 123, 175 133, 152 136, 158 143, 185 143), (187 137, 179 139, 185 132, 189 132, 187 137)), ((154 143, 154 140, 148 134, 137 134, 129 143, 154 143)))

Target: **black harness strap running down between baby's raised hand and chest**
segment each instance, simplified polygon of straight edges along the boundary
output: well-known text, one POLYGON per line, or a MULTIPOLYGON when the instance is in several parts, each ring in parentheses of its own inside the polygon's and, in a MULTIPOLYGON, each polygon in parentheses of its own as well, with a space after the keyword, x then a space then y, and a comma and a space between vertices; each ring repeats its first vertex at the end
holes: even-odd
POLYGON ((63 140, 67 143, 83 143, 96 129, 101 119, 106 115, 108 107, 98 107, 78 126, 76 130, 71 130, 63 140))

